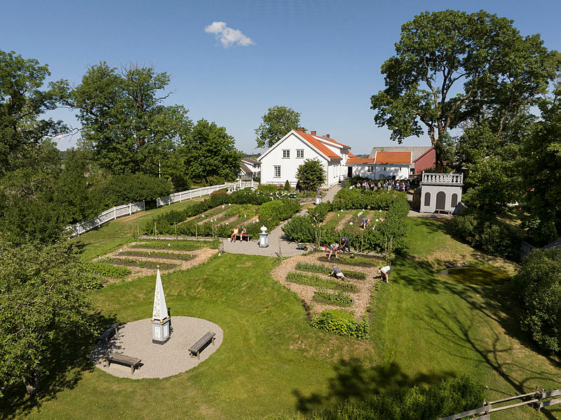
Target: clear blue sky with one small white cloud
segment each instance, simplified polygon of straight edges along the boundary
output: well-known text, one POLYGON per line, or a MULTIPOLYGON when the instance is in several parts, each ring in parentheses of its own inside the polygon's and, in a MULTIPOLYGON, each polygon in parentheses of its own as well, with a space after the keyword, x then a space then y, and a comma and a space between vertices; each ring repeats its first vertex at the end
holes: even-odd
MULTIPOLYGON (((226 127, 245 153, 262 151, 254 130, 280 105, 301 113, 308 130, 362 154, 396 145, 374 124, 370 97, 384 89, 380 66, 394 55, 401 25, 449 8, 496 13, 561 50, 559 0, 0 0, 0 50, 38 59, 50 80, 74 85, 101 61, 154 66, 171 76, 167 104, 185 106, 195 122, 226 127)), ((53 117, 79 127, 74 114, 61 109, 53 117)), ((78 139, 59 139, 58 147, 78 139)))

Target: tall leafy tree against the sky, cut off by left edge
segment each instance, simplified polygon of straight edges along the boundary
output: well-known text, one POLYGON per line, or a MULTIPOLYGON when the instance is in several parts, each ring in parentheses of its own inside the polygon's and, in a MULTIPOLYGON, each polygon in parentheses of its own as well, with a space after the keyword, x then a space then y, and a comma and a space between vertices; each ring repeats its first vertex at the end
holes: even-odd
POLYGON ((42 119, 58 106, 58 92, 41 90, 48 66, 15 52, 0 51, 0 176, 29 162, 43 141, 67 130, 57 120, 42 119))

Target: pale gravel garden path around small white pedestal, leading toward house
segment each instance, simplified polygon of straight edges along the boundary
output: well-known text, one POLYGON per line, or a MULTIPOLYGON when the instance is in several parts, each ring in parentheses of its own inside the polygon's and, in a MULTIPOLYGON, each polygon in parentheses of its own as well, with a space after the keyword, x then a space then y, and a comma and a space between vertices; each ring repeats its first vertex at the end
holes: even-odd
MULTIPOLYGON (((335 184, 331 186, 323 195, 322 201, 333 201, 341 186, 335 184)), ((298 214, 306 214, 307 210, 304 209, 298 214)), ((290 220, 290 219, 289 219, 290 220)), ((280 223, 276 228, 269 232, 269 246, 267 248, 259 248, 259 238, 252 238, 251 241, 236 241, 229 242, 227 239, 222 238, 222 250, 229 253, 243 253, 246 255, 264 255, 266 257, 293 257, 302 255, 306 251, 296 249, 296 242, 290 242, 283 238, 283 226, 288 221, 280 223)))

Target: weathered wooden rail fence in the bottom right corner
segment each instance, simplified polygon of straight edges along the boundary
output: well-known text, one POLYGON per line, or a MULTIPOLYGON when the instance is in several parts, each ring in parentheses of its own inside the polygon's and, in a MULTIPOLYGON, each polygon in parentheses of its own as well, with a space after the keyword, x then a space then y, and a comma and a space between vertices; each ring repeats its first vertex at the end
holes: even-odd
POLYGON ((561 404, 561 398, 555 398, 554 400, 547 400, 548 398, 553 398, 561 395, 561 389, 555 389, 554 391, 546 392, 543 389, 538 389, 536 386, 536 391, 514 395, 513 397, 503 398, 502 400, 484 402, 483 407, 471 409, 469 411, 453 414, 452 416, 442 417, 439 420, 457 420, 457 419, 464 419, 467 416, 473 416, 474 414, 482 414, 482 416, 475 417, 473 420, 490 420, 492 412, 502 411, 503 409, 510 409, 514 407, 520 407, 520 405, 527 405, 527 404, 535 404, 536 409, 538 411, 541 410, 542 407, 550 407, 551 405, 561 404), (497 404, 501 404, 503 402, 508 402, 512 400, 518 400, 519 398, 529 398, 529 400, 525 400, 522 402, 517 402, 511 405, 501 405, 496 407, 497 404))

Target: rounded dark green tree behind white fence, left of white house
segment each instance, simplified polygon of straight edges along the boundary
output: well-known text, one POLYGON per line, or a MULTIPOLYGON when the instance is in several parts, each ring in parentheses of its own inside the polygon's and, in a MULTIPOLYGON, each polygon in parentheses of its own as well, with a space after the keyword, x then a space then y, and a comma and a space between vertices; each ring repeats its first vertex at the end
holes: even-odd
POLYGON ((217 176, 232 181, 240 172, 242 153, 234 146, 234 137, 226 132, 226 127, 216 123, 199 120, 183 150, 190 179, 209 182, 210 177, 217 176))

